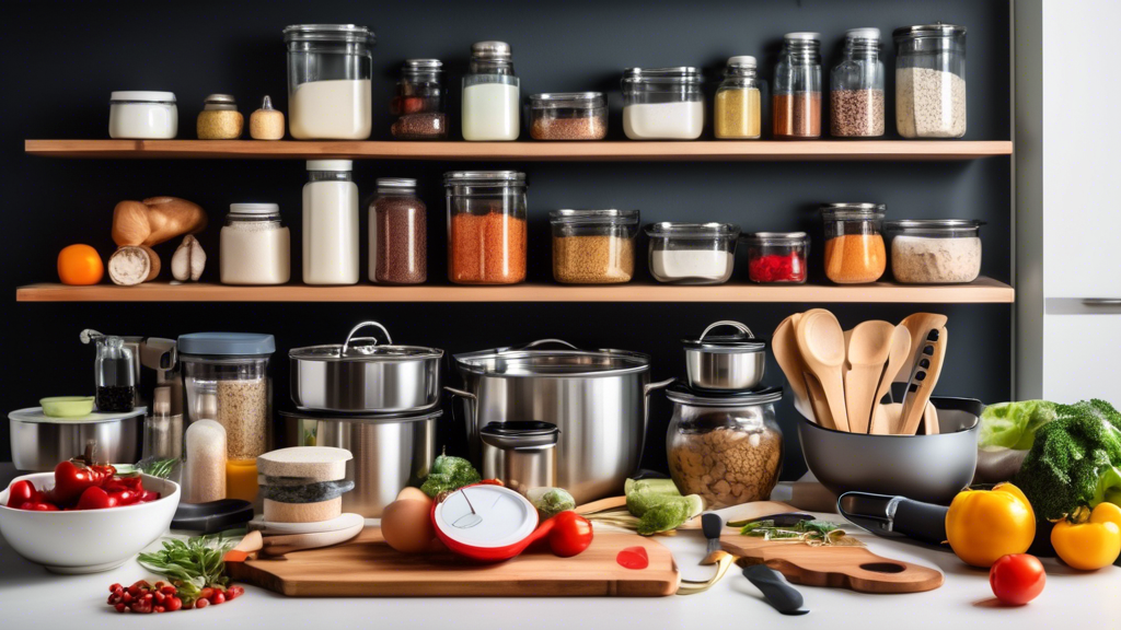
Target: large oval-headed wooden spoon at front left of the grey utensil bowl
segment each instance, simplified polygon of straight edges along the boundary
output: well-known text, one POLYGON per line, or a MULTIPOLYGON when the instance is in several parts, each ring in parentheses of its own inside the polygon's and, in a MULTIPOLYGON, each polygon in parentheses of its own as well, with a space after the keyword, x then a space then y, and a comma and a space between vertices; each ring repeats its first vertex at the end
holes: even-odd
POLYGON ((809 372, 821 383, 833 424, 837 430, 849 430, 842 373, 845 359, 844 331, 841 330, 841 324, 828 311, 814 309, 803 314, 795 331, 798 351, 809 372))

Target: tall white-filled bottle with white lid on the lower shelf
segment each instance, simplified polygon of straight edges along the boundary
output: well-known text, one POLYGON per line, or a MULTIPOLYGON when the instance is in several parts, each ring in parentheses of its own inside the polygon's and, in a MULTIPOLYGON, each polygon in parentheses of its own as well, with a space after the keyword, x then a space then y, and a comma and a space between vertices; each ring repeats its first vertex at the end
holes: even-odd
POLYGON ((359 278, 358 185, 349 159, 307 161, 304 282, 354 285, 359 278))

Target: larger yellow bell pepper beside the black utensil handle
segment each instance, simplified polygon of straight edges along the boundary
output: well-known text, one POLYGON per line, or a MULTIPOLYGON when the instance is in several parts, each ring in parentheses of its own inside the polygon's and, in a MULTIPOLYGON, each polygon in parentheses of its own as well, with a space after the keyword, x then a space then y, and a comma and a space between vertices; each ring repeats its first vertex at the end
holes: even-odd
POLYGON ((990 567, 1001 556, 1022 554, 1036 536, 1036 516, 1023 492, 1011 483, 990 490, 963 490, 946 512, 946 538, 966 564, 990 567))

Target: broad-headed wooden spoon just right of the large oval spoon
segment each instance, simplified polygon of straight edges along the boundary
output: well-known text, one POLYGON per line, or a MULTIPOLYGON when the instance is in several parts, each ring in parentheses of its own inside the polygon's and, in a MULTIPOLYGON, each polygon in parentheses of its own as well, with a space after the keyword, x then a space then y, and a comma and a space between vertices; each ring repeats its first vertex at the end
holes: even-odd
POLYGON ((872 423, 872 405, 878 402, 876 392, 891 353, 895 333, 893 324, 879 319, 863 322, 852 330, 844 373, 845 413, 852 433, 868 433, 872 423))

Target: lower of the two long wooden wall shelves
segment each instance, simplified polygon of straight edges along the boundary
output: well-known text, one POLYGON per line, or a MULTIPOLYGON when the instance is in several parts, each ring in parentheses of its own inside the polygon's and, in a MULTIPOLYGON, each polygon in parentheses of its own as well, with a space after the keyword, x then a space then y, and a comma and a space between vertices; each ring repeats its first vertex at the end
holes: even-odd
POLYGON ((565 286, 525 284, 502 287, 282 285, 234 287, 210 284, 149 282, 136 287, 71 287, 41 284, 16 289, 17 302, 822 302, 822 303, 1003 303, 1016 300, 1012 287, 991 278, 969 285, 921 286, 877 282, 836 285, 680 286, 626 284, 565 286))

